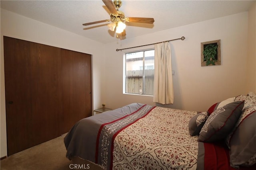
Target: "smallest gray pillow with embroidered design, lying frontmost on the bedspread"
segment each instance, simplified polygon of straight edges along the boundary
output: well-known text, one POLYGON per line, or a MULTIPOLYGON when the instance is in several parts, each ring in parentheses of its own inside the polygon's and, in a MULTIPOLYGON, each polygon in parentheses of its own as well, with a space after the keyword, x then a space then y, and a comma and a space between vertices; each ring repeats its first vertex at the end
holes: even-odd
POLYGON ((198 113, 188 122, 188 132, 191 136, 199 135, 204 123, 208 118, 208 112, 198 113))

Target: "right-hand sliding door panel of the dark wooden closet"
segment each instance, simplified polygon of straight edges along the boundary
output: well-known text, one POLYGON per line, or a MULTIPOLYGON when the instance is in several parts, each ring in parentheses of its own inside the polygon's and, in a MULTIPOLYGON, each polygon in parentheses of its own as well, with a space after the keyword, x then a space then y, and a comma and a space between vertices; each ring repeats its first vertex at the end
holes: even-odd
POLYGON ((64 133, 76 121, 92 115, 91 56, 62 49, 61 91, 62 110, 60 125, 64 133))

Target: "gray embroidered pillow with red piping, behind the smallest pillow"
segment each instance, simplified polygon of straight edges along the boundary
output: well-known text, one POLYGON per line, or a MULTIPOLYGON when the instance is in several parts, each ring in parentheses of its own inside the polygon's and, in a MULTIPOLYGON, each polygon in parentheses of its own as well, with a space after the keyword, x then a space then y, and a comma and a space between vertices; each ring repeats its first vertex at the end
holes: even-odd
POLYGON ((225 139, 239 119, 244 101, 232 102, 216 109, 202 127, 198 141, 216 142, 225 139))

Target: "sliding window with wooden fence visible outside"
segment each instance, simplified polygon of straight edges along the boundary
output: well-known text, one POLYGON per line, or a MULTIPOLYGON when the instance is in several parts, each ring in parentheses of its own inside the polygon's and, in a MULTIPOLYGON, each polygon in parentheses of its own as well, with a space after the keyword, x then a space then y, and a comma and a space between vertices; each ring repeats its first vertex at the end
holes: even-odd
POLYGON ((153 95, 154 50, 125 54, 125 93, 153 95))

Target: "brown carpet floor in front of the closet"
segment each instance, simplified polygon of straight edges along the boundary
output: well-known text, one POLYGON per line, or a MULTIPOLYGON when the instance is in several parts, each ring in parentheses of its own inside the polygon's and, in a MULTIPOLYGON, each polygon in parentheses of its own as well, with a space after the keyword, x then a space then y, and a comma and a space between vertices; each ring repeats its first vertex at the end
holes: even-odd
POLYGON ((66 134, 8 156, 1 160, 1 170, 70 170, 75 169, 75 166, 80 166, 80 169, 102 170, 94 163, 80 158, 68 160, 63 142, 65 136, 66 134))

